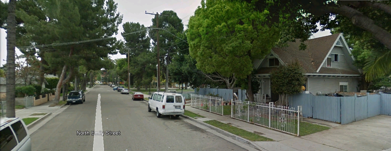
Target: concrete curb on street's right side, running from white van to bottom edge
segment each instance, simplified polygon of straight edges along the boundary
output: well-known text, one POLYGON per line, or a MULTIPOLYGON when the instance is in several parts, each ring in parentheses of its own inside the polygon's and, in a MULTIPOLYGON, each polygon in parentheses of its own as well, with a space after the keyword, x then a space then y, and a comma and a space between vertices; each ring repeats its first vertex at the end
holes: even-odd
POLYGON ((258 145, 256 145, 255 143, 251 142, 250 140, 244 139, 244 138, 242 138, 242 137, 240 137, 240 136, 238 136, 238 135, 232 134, 232 133, 230 133, 230 132, 227 132, 227 131, 225 131, 225 130, 222 130, 222 129, 220 129, 220 128, 217 128, 217 127, 215 127, 215 126, 206 124, 206 123, 204 123, 204 122, 202 122, 202 121, 199 121, 199 120, 197 120, 197 119, 191 118, 191 117, 189 117, 189 116, 181 115, 181 117, 190 119, 191 121, 197 122, 198 124, 207 126, 207 127, 211 128, 212 130, 215 130, 215 131, 217 131, 217 132, 219 132, 219 133, 221 133, 221 134, 223 134, 223 135, 226 135, 226 136, 228 136, 228 137, 231 137, 232 139, 235 139, 235 140, 239 140, 240 142, 243 142, 243 143, 247 144, 247 145, 250 146, 250 147, 253 147, 253 148, 257 149, 257 150, 260 150, 260 148, 257 147, 258 145))

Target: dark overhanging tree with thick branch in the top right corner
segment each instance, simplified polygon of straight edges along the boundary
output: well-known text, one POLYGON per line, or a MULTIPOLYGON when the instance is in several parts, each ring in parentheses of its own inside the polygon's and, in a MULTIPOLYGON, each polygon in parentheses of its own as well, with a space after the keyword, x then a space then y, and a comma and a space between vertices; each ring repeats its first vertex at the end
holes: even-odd
POLYGON ((255 6, 259 12, 265 9, 270 13, 271 23, 285 19, 285 32, 282 42, 300 38, 308 39, 307 33, 317 32, 316 23, 325 29, 339 27, 339 32, 370 43, 371 57, 364 69, 367 81, 386 75, 391 70, 389 60, 391 52, 390 1, 356 0, 244 0, 255 6), (292 32, 294 31, 294 32, 292 32))

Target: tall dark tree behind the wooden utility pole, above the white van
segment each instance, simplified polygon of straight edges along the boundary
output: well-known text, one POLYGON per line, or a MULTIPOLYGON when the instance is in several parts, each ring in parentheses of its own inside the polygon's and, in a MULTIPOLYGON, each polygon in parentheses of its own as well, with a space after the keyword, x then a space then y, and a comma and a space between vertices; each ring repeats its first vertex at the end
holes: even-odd
MULTIPOLYGON (((168 67, 167 64, 170 64, 171 60, 169 56, 170 52, 175 52, 177 47, 176 47, 176 34, 183 32, 183 23, 180 18, 178 18, 178 15, 174 11, 163 11, 161 12, 162 15, 164 16, 159 16, 158 17, 158 27, 163 28, 165 30, 161 30, 159 32, 159 47, 163 48, 160 49, 160 67, 161 67, 161 72, 163 72, 165 75, 166 79, 166 84, 165 88, 167 90, 168 88, 168 82, 169 82, 169 75, 166 75, 168 73, 168 67), (169 52, 170 51, 170 52, 169 52)), ((156 18, 152 19, 152 26, 156 27, 156 18)), ((157 30, 150 30, 149 31, 149 36, 153 40, 153 46, 156 50, 157 46, 157 39, 156 39, 156 32, 157 30)))

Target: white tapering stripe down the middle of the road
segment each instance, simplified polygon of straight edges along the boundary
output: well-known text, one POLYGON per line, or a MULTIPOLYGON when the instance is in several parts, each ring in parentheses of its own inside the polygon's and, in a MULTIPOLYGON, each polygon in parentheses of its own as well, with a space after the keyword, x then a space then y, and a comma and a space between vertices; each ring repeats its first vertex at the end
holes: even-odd
MULTIPOLYGON (((98 94, 97 112, 95 114, 95 132, 103 132, 102 112, 100 111, 100 94, 98 94)), ((104 151, 103 135, 94 135, 94 146, 92 151, 104 151)))

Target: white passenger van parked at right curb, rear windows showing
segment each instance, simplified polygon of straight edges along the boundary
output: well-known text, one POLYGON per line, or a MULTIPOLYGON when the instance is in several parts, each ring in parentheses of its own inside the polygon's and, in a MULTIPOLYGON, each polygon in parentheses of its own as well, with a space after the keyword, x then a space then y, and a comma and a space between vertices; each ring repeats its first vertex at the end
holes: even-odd
POLYGON ((185 98, 183 95, 172 92, 155 92, 148 97, 148 112, 156 111, 156 117, 161 115, 185 114, 185 98))

